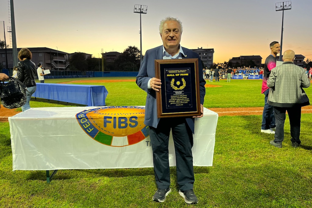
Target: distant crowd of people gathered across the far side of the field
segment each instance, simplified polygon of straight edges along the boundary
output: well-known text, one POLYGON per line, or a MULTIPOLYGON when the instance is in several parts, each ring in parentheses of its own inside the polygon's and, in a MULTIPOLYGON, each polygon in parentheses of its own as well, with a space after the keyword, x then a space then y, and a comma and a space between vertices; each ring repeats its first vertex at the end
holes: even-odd
MULTIPOLYGON (((262 79, 262 75, 263 75, 263 68, 251 68, 251 67, 238 67, 238 68, 231 68, 229 67, 229 69, 232 69, 231 72, 231 77, 232 75, 243 75, 243 79, 248 79, 249 75, 259 75, 260 79, 262 79)), ((202 69, 202 73, 203 73, 203 77, 206 80, 209 80, 209 82, 212 82, 213 78, 215 77, 215 69, 202 69)), ((219 69, 219 78, 220 79, 227 79, 227 69, 219 69)))

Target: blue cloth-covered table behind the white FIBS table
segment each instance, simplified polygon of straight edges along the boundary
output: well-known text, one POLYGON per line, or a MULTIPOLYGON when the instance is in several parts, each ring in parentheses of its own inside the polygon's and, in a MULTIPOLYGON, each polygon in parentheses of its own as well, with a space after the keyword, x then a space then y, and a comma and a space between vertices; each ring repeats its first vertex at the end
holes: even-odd
POLYGON ((32 97, 78 103, 87 106, 105 106, 108 94, 105 86, 80 84, 36 83, 37 90, 32 97))

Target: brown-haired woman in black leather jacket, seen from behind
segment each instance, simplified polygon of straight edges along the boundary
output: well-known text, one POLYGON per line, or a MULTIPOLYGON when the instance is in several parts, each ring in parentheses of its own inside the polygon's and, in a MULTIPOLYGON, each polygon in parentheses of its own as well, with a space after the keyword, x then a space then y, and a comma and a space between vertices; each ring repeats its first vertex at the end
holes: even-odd
POLYGON ((26 103, 22 106, 22 111, 26 111, 30 108, 29 101, 32 94, 36 91, 35 75, 37 72, 36 65, 30 59, 32 59, 32 52, 28 48, 22 48, 18 52, 18 59, 21 61, 17 64, 17 79, 24 83, 27 87, 26 103))

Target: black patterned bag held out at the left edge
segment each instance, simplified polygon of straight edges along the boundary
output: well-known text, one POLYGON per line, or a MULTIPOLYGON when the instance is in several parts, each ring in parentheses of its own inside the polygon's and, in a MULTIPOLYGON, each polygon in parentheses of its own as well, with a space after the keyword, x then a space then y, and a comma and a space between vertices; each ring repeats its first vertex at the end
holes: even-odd
POLYGON ((17 78, 9 77, 9 82, 0 83, 1 104, 8 108, 18 108, 26 103, 27 87, 17 78))

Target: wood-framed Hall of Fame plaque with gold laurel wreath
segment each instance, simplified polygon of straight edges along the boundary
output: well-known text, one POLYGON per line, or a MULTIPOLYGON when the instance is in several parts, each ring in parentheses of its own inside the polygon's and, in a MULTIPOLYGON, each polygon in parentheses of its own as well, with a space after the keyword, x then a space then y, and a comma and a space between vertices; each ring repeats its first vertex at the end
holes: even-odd
POLYGON ((198 59, 156 59, 157 117, 200 116, 198 59))

